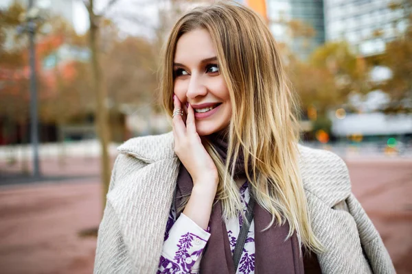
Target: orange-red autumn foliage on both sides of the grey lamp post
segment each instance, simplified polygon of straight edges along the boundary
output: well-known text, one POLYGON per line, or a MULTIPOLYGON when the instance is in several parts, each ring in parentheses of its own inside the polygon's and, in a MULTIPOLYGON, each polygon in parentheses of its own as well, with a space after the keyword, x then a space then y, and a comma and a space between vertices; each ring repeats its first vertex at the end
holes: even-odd
MULTIPOLYGON (((25 10, 14 3, 1 11, 1 86, 0 115, 9 120, 27 122, 30 105, 28 47, 25 34, 16 34, 25 10)), ((36 71, 38 78, 38 102, 41 121, 61 123, 84 110, 82 100, 90 92, 82 88, 87 84, 84 64, 71 60, 59 60, 58 51, 63 45, 85 45, 84 37, 78 36, 73 27, 59 16, 48 18, 51 26, 47 33, 36 32, 36 71), (54 55, 56 64, 44 68, 45 58, 54 55)), ((84 100, 83 100, 84 101, 84 100)))

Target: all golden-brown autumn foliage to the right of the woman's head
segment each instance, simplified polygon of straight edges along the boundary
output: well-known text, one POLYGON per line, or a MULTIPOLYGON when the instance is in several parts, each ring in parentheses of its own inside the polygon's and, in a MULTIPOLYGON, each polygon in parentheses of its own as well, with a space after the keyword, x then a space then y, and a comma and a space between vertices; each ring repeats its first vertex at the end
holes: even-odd
MULTIPOLYGON (((411 112, 412 110, 412 1, 391 1, 388 7, 400 10, 403 16, 393 19, 393 33, 396 38, 386 42, 386 50, 374 56, 363 57, 352 51, 345 41, 326 42, 316 49, 309 60, 297 60, 288 56, 288 69, 293 85, 301 98, 302 110, 312 106, 319 112, 345 104, 351 95, 366 95, 373 90, 383 90, 391 102, 382 110, 385 112, 411 112), (399 26, 404 25, 403 32, 399 26), (391 77, 381 82, 373 82, 371 69, 386 66, 391 77)), ((293 22, 290 29, 295 38, 304 37, 310 31, 293 22)), ((383 32, 376 29, 375 37, 383 32)), ((353 108, 355 109, 355 108, 353 108)))

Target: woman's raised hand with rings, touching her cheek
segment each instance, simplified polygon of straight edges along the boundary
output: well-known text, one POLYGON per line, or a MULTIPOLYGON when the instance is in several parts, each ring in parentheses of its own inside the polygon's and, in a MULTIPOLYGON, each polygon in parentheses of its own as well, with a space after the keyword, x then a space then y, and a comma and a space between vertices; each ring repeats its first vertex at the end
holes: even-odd
MULTIPOLYGON (((181 101, 176 95, 173 96, 173 101, 174 111, 183 109, 181 101)), ((174 152, 192 176, 194 186, 206 184, 209 187, 216 188, 218 170, 209 153, 203 147, 201 137, 196 132, 192 105, 187 105, 186 124, 181 115, 175 115, 172 121, 174 152)))

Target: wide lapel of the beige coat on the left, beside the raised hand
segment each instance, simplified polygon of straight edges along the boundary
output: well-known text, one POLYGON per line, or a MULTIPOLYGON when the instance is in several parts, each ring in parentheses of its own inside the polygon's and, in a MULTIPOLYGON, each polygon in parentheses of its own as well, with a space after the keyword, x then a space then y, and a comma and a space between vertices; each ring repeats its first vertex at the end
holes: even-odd
MULTIPOLYGON (((119 150, 130 157, 135 151, 128 151, 127 147, 119 150)), ((171 155, 168 152, 163 157, 171 155)), ((130 164, 123 172, 117 170, 121 174, 117 174, 115 187, 107 199, 116 212, 134 270, 156 272, 179 166, 176 156, 154 162, 148 157, 144 161, 130 158, 130 164)))

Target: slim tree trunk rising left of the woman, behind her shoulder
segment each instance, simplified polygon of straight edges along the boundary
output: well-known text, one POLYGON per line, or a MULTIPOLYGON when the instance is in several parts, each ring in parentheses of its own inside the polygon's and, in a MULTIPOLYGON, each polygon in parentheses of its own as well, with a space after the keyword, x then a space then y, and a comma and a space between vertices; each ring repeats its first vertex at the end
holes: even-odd
POLYGON ((95 91, 97 99, 97 108, 95 109, 95 117, 97 121, 98 136, 101 148, 101 176, 103 182, 103 208, 106 203, 106 193, 108 191, 108 184, 110 183, 111 166, 108 155, 108 115, 106 105, 106 89, 102 86, 102 71, 100 68, 99 52, 98 52, 98 16, 93 11, 93 0, 89 1, 90 33, 89 33, 89 47, 91 50, 91 69, 93 73, 92 87, 95 91))

